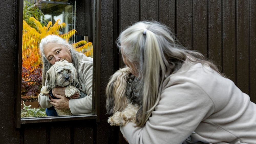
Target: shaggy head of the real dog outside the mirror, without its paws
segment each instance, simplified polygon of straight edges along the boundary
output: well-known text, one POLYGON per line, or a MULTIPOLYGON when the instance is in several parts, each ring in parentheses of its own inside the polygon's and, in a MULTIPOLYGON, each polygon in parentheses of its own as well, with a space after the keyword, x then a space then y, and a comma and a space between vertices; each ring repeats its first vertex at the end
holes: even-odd
POLYGON ((122 111, 127 103, 140 103, 141 101, 137 100, 137 84, 138 79, 131 73, 130 68, 116 71, 106 87, 107 114, 113 115, 117 111, 122 111))

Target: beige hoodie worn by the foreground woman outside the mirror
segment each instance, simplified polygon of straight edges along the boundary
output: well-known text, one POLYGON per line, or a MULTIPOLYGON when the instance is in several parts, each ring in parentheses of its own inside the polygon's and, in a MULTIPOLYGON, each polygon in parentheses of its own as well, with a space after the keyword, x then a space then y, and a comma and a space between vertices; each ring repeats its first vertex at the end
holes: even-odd
POLYGON ((130 144, 256 143, 256 105, 231 80, 185 62, 163 85, 144 127, 120 127, 130 144))

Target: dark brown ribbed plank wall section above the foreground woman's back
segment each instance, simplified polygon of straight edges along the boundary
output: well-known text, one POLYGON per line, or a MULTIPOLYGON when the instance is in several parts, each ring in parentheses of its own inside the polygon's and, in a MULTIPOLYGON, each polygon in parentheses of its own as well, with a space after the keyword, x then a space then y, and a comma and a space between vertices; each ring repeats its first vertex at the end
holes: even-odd
POLYGON ((179 42, 203 53, 256 102, 256 3, 120 0, 119 30, 141 20, 172 28, 179 42))

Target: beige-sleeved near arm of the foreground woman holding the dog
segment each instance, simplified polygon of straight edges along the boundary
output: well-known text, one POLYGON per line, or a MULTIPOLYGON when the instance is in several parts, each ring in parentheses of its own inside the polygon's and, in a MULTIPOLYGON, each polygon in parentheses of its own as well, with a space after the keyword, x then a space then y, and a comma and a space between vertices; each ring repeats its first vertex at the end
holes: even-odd
POLYGON ((214 104, 200 87, 179 82, 163 91, 144 127, 129 123, 120 130, 129 143, 180 144, 213 111, 214 104))

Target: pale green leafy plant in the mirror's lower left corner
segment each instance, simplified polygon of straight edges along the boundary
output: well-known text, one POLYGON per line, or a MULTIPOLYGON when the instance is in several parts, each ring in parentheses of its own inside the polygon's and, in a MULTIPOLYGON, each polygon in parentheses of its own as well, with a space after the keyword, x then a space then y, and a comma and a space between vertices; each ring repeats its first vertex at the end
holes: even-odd
POLYGON ((23 109, 20 111, 20 117, 42 117, 47 116, 45 108, 30 108, 31 105, 26 106, 23 101, 23 109))

